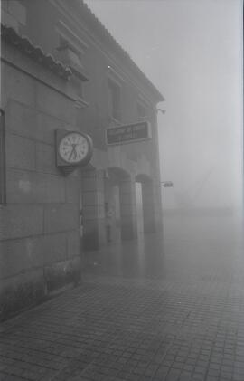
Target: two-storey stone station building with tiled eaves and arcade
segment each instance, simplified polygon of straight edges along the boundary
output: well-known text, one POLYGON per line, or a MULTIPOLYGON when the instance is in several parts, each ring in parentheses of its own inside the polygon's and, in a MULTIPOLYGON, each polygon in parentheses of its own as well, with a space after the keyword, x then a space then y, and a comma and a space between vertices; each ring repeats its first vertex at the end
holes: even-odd
POLYGON ((161 229, 162 100, 82 0, 2 2, 2 317, 78 282, 82 252, 161 229))

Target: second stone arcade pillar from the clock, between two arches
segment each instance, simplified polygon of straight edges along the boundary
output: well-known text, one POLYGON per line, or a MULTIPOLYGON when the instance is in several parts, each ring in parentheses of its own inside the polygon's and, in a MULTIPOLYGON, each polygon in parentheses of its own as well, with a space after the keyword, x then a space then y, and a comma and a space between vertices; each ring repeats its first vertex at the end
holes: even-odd
POLYGON ((136 186, 127 176, 119 182, 121 239, 136 238, 136 186))

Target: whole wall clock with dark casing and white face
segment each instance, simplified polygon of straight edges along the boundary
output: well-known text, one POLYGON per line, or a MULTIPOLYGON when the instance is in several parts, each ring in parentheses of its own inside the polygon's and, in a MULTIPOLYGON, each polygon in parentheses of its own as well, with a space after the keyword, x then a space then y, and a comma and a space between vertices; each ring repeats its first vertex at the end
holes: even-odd
POLYGON ((66 129, 56 130, 57 167, 80 167, 89 163, 93 144, 89 135, 66 129))

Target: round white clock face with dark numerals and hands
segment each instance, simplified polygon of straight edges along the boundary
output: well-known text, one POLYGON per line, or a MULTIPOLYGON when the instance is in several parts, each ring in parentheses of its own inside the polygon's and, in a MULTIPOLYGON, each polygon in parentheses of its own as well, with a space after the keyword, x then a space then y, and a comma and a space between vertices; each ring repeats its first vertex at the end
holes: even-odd
POLYGON ((59 153, 67 163, 79 163, 89 153, 88 140, 78 132, 70 132, 61 139, 59 153))

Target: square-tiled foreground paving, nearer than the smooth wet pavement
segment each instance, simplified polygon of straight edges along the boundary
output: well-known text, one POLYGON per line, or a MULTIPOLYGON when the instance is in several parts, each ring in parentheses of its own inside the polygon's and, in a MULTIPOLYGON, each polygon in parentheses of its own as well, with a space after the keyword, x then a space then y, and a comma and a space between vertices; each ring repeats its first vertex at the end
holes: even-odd
POLYGON ((184 260, 163 278, 86 273, 80 287, 6 321, 0 380, 243 381, 243 271, 226 276, 225 262, 222 276, 221 262, 204 278, 184 260))

